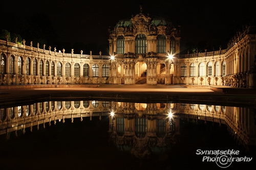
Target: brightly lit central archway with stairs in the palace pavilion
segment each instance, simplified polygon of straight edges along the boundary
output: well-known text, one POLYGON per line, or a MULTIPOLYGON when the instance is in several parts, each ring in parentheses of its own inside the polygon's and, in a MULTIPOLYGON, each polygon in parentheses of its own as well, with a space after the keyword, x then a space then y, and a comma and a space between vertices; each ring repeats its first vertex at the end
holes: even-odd
POLYGON ((145 62, 135 64, 135 84, 146 84, 147 66, 145 62))

